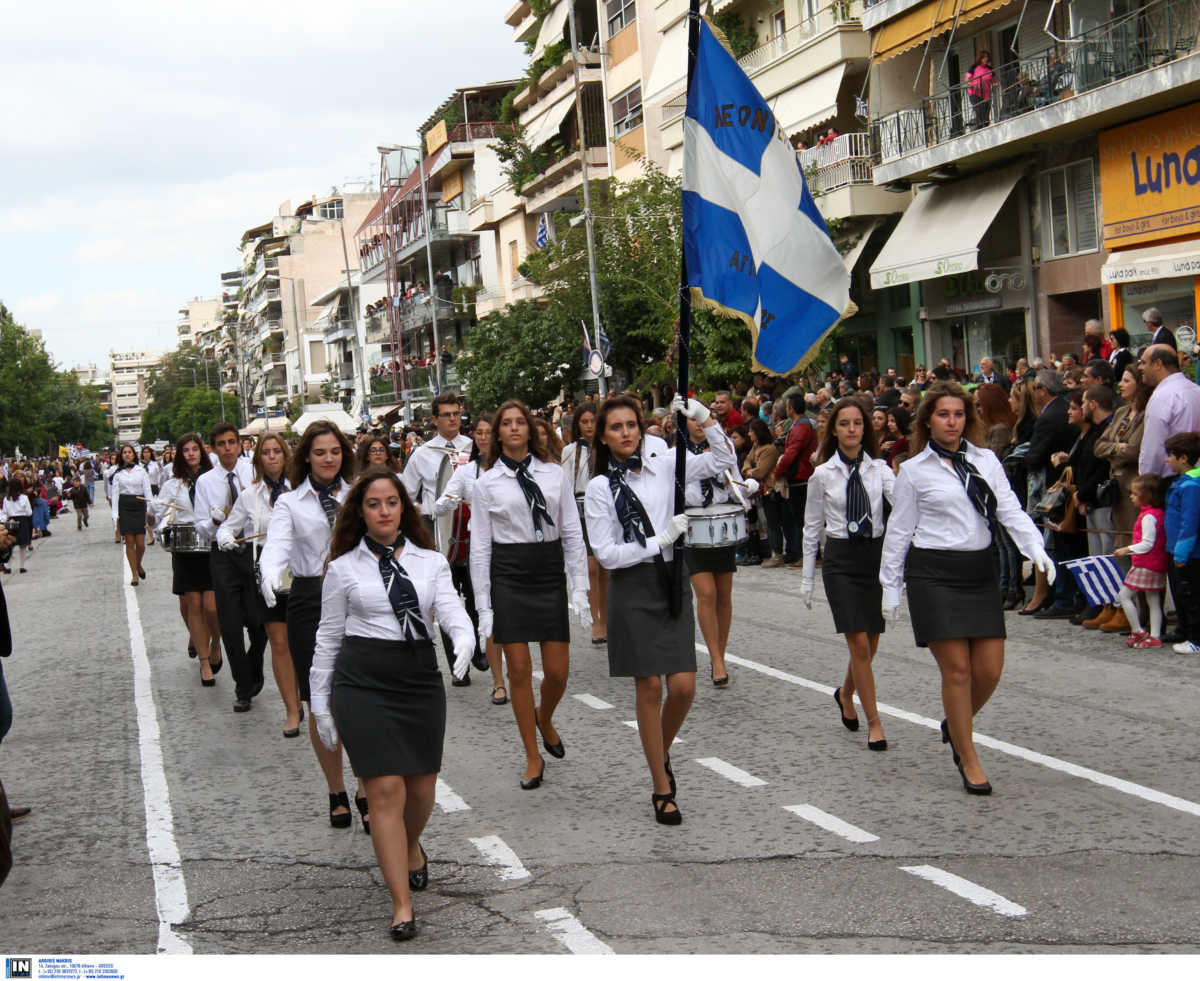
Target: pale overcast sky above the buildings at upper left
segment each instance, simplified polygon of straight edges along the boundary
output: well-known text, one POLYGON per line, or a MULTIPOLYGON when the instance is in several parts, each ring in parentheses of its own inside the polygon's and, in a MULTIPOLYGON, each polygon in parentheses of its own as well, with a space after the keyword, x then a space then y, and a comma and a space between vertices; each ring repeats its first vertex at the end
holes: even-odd
POLYGON ((0 301, 62 367, 175 347, 241 233, 518 77, 508 0, 5 5, 0 301))

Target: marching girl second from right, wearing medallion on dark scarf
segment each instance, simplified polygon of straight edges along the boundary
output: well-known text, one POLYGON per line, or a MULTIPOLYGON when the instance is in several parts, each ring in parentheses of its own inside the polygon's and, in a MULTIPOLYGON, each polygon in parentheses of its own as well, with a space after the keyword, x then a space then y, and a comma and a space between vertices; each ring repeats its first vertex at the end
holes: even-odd
POLYGON ((846 680, 834 688, 841 724, 858 730, 854 692, 866 712, 866 748, 887 750, 875 704, 871 661, 883 633, 883 501, 892 501, 895 474, 877 458, 878 431, 868 423, 862 404, 844 398, 833 407, 821 444, 822 463, 809 477, 804 506, 804 572, 800 598, 812 609, 812 574, 817 543, 824 531, 821 579, 833 612, 834 630, 846 638, 850 666, 846 680), (848 712, 848 714, 847 714, 848 712))

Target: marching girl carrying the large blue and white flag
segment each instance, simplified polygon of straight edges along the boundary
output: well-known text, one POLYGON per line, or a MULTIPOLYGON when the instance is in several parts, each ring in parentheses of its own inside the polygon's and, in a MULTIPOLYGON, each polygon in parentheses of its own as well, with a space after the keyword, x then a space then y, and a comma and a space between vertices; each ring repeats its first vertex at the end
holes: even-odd
MULTIPOLYGON (((708 453, 689 455, 688 481, 714 477, 736 457, 728 440, 700 402, 676 396, 672 414, 683 411, 704 427, 708 453)), ((673 589, 667 562, 671 547, 688 530, 674 510, 674 452, 646 435, 641 403, 613 396, 596 416, 593 473, 584 510, 592 549, 610 570, 608 674, 632 678, 637 730, 654 783, 650 804, 659 824, 680 824, 668 750, 696 694, 696 626, 691 592, 684 591, 678 616, 671 615, 673 589), (662 675, 667 697, 662 699, 662 675)))

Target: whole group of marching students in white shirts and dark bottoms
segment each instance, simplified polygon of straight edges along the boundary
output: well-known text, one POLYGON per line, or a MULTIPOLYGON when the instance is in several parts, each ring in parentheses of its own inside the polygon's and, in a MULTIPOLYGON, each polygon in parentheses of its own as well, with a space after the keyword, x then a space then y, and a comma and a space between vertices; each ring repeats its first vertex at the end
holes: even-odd
MULTIPOLYGON (((634 679, 654 818, 678 825, 670 747, 695 696, 695 626, 712 681, 725 688, 734 549, 758 490, 737 474, 718 419, 692 398, 671 405, 686 420, 685 513, 674 513, 676 451, 647 432, 635 398, 580 407, 565 447, 520 402, 478 417, 472 437, 461 433, 456 396, 443 393, 432 408, 437 434, 402 474, 385 465, 382 440, 364 441, 355 456, 336 426, 314 422, 294 450, 265 434, 248 457, 228 423, 212 431, 211 450, 188 433, 161 464, 125 445, 106 475, 131 586, 146 578, 148 537, 157 534, 172 554, 200 684, 216 684, 223 646, 233 709, 248 711, 270 644, 283 736, 299 736, 307 703, 334 827, 352 825, 346 747, 397 940, 415 934, 412 892, 428 884, 421 833, 446 720, 434 630, 452 685, 469 685, 474 664, 492 673, 492 703, 511 703, 526 757, 520 786, 533 790, 546 778, 541 750, 566 753, 554 710, 566 690, 574 612, 592 643, 607 646, 610 674, 634 679), (674 585, 677 549, 690 591, 674 585)), ((871 660, 907 585, 916 642, 942 673, 942 740, 966 790, 988 794, 972 720, 1004 657, 992 532, 1007 529, 1050 580, 1055 565, 998 461, 978 449, 978 429, 972 396, 934 385, 912 427, 911 457, 894 475, 878 459, 863 404, 839 401, 809 482, 800 591, 811 608, 823 541, 824 591, 850 651, 834 699, 842 724, 857 730, 858 696, 868 746, 882 751, 871 660)))

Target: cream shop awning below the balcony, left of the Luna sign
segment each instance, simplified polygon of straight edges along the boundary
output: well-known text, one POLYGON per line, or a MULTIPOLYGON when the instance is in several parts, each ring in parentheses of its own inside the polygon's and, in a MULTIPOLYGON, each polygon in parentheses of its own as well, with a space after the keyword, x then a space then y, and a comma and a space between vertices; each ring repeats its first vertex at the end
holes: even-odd
POLYGON ((871 289, 979 267, 979 240, 1021 179, 1024 165, 922 191, 871 265, 871 289))

